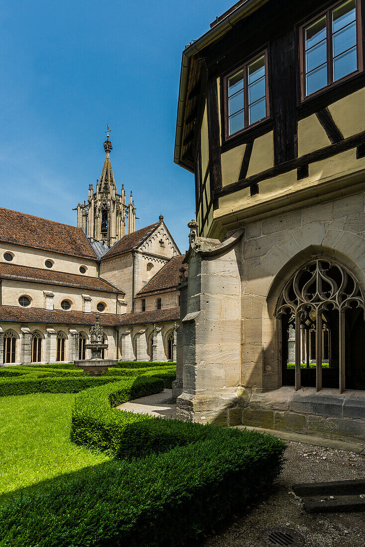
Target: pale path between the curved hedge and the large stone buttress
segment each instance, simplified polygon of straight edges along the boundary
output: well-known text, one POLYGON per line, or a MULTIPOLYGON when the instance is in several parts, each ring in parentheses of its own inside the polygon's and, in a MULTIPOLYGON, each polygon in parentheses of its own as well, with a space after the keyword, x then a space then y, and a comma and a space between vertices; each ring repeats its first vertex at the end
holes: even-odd
POLYGON ((164 389, 161 393, 132 399, 128 403, 117 406, 117 408, 128 412, 136 412, 136 414, 176 418, 176 403, 172 400, 172 389, 164 389))

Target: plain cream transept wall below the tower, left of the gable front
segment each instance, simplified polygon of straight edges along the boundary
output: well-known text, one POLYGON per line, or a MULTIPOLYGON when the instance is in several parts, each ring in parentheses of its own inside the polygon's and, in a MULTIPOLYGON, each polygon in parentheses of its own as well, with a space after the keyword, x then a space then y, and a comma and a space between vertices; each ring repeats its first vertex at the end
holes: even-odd
POLYGON ((132 253, 122 254, 109 260, 102 260, 100 263, 100 277, 123 290, 125 293, 125 301, 127 302, 125 313, 130 313, 132 310, 133 290, 132 253))

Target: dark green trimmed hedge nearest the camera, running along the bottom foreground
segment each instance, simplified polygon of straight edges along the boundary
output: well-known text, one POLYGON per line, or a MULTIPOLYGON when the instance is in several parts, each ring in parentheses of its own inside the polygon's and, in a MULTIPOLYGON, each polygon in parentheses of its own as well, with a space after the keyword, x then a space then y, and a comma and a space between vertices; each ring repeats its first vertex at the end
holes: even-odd
POLYGON ((0 509, 0 547, 190 544, 280 472, 282 441, 238 433, 103 464, 47 493, 15 499, 0 509))

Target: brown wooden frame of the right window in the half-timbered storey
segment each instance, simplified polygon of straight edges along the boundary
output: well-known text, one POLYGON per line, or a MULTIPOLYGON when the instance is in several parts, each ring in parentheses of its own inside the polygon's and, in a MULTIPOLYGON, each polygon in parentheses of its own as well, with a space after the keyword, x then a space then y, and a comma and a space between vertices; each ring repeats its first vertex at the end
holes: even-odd
POLYGON ((333 43, 332 43, 332 11, 338 8, 341 4, 344 4, 346 0, 339 0, 334 4, 331 4, 329 8, 319 11, 314 17, 305 21, 303 25, 299 26, 299 67, 300 67, 300 101, 308 101, 312 97, 316 97, 329 89, 332 89, 336 85, 340 85, 346 80, 354 78, 357 74, 363 72, 363 43, 362 43, 362 22, 361 22, 361 0, 355 0, 356 6, 356 46, 357 46, 357 70, 346 74, 343 78, 333 80, 333 43), (310 95, 306 95, 305 92, 305 28, 312 23, 321 19, 323 15, 326 15, 326 42, 327 42, 327 85, 317 91, 314 91, 310 95))

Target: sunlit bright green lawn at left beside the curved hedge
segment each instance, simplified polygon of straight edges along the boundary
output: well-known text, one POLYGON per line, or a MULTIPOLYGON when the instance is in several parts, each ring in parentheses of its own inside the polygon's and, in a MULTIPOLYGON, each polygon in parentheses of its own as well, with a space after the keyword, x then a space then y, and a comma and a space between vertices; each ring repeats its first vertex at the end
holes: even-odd
POLYGON ((0 503, 9 494, 111 459, 71 443, 74 393, 0 398, 0 503))

